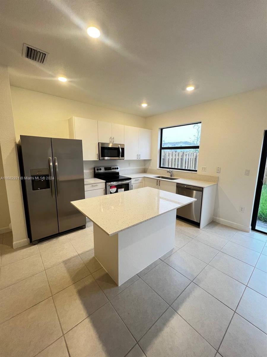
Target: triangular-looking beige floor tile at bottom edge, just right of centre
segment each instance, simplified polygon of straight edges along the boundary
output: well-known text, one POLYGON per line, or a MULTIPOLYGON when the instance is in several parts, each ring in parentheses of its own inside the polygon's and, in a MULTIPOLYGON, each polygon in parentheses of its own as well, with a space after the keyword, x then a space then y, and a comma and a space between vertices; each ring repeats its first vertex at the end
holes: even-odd
POLYGON ((214 357, 216 352, 171 307, 138 344, 147 357, 214 357))

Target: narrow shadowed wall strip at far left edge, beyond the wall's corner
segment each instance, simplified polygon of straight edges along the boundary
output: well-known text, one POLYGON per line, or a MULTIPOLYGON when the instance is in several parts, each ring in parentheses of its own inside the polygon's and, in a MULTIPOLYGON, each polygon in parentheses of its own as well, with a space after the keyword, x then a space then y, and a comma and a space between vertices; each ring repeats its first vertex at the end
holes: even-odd
MULTIPOLYGON (((4 167, 0 147, 0 178, 4 177, 4 167)), ((6 183, 4 180, 0 180, 0 234, 9 227, 10 215, 9 207, 6 195, 6 183)))

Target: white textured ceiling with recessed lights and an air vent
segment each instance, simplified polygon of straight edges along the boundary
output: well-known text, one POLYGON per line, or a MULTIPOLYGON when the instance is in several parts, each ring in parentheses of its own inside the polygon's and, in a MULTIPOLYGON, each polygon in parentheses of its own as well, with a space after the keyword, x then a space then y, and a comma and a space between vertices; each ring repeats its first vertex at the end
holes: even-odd
POLYGON ((68 99, 150 116, 267 84, 265 0, 3 0, 0 21, 11 85, 68 99))

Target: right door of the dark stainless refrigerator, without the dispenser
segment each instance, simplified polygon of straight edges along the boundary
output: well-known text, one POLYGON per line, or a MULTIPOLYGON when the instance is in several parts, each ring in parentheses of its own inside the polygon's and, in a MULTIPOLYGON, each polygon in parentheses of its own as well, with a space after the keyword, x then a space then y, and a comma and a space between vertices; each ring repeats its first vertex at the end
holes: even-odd
POLYGON ((52 138, 59 232, 86 224, 85 216, 70 201, 84 196, 82 140, 52 138))

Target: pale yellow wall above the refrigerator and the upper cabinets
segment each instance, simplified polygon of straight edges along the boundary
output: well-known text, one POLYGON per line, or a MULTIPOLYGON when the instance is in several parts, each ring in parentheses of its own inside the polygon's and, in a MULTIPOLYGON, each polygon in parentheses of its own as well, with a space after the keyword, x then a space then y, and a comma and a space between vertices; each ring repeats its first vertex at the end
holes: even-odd
POLYGON ((72 116, 145 127, 145 118, 18 87, 11 88, 16 140, 20 135, 69 137, 72 116))

